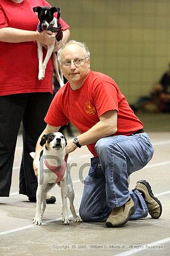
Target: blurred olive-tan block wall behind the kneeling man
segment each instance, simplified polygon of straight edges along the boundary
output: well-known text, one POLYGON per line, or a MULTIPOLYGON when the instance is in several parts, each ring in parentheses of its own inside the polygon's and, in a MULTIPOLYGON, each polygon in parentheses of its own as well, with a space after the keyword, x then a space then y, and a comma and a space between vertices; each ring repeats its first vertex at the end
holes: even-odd
POLYGON ((71 38, 86 42, 91 69, 111 76, 130 103, 148 94, 170 59, 169 0, 49 0, 71 38))

